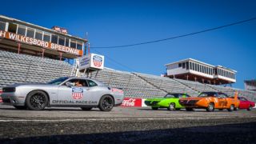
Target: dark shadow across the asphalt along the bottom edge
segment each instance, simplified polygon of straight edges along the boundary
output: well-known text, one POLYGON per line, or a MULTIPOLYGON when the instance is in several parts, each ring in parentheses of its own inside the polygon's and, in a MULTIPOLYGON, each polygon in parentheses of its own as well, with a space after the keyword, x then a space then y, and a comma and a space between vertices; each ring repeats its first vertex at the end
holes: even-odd
POLYGON ((256 122, 166 130, 0 138, 3 143, 255 143, 256 122))

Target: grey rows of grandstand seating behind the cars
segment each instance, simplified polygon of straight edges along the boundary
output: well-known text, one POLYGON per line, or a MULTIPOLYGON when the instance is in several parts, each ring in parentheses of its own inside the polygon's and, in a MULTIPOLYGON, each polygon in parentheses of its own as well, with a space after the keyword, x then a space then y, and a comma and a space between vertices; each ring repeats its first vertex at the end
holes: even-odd
MULTIPOLYGON (((48 82, 53 78, 70 76, 73 66, 50 58, 39 58, 0 50, 0 87, 18 82, 48 82)), ((91 74, 95 78, 96 72, 91 74)), ((81 73, 81 76, 85 74, 81 73)), ((163 97, 167 93, 187 93, 197 96, 202 91, 222 91, 239 95, 256 102, 256 92, 231 87, 202 84, 177 78, 165 78, 151 74, 130 73, 105 68, 98 72, 99 81, 125 91, 129 98, 163 97)))

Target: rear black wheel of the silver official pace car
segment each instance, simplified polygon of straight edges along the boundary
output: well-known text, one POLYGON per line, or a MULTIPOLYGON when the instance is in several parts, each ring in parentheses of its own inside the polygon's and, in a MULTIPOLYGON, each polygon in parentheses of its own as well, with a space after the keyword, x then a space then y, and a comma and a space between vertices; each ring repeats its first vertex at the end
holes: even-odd
POLYGON ((102 111, 110 111, 114 107, 114 98, 110 95, 103 95, 99 101, 98 108, 102 111))

